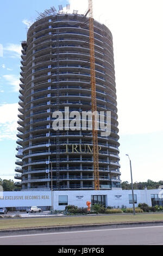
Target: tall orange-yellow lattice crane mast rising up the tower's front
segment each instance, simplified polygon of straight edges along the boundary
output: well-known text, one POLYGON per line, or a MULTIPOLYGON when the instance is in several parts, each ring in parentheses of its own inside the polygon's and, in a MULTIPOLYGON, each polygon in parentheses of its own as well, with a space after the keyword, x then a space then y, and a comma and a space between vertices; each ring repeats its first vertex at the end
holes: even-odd
POLYGON ((93 29, 93 5, 89 1, 89 32, 90 32, 90 70, 91 70, 91 101, 92 101, 92 137, 93 137, 93 168, 95 190, 99 190, 98 165, 98 131, 97 131, 97 102, 96 102, 96 74, 95 74, 95 39, 93 29))

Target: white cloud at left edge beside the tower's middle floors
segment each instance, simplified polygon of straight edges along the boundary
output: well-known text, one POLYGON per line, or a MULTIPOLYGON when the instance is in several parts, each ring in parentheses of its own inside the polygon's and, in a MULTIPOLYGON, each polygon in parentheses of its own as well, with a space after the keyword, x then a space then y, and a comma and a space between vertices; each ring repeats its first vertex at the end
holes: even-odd
POLYGON ((16 139, 18 104, 0 106, 0 140, 16 139))

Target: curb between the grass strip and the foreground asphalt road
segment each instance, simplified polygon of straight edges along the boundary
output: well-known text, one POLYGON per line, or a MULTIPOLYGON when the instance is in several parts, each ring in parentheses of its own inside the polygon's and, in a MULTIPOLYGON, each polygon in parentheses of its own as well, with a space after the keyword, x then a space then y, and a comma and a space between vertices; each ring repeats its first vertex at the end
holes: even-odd
POLYGON ((140 227, 140 226, 154 226, 163 225, 163 221, 147 221, 147 222, 119 222, 119 223, 103 223, 103 224, 88 224, 88 225, 67 225, 67 226, 51 226, 51 227, 38 227, 38 228, 18 228, 18 229, 3 229, 0 230, 0 235, 21 235, 21 234, 36 234, 36 233, 51 233, 62 231, 82 231, 93 229, 105 228, 127 228, 127 227, 140 227))

